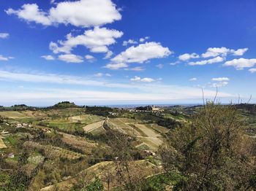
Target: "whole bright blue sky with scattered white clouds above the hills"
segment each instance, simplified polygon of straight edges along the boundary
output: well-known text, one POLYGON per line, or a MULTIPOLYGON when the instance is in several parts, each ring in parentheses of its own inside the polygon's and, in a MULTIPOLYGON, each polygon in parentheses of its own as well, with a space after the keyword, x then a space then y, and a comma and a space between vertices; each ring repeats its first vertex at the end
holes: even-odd
POLYGON ((202 104, 216 93, 255 103, 255 9, 255 0, 1 0, 0 105, 202 104))

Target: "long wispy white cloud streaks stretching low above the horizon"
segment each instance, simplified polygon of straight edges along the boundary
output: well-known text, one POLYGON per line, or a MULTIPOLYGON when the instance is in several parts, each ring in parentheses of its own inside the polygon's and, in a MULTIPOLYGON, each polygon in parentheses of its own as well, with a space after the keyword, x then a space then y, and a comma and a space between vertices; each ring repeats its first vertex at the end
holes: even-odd
MULTIPOLYGON (((10 82, 26 82, 37 84, 40 89, 32 87, 31 90, 26 88, 23 92, 19 93, 15 91, 2 91, 1 103, 7 102, 24 102, 35 100, 34 103, 41 101, 42 99, 50 100, 53 102, 72 99, 74 101, 95 101, 95 104, 99 104, 99 101, 187 101, 195 99, 201 100, 202 92, 196 87, 186 87, 177 85, 162 85, 159 83, 116 83, 108 82, 104 80, 91 80, 86 77, 72 77, 63 76, 57 74, 28 74, 28 73, 16 73, 9 71, 0 71, 1 81, 10 82), (107 87, 105 91, 100 91, 99 88, 96 91, 84 91, 84 90, 65 90, 65 89, 42 89, 40 83, 52 83, 61 85, 83 85, 89 87, 107 87), (117 87, 113 92, 113 87, 117 87), (121 92, 118 90, 121 90, 121 92), (132 90, 132 92, 130 92, 132 90)), ((83 88, 83 87, 82 87, 83 88)), ((85 89, 85 88, 83 88, 85 89)), ((205 98, 213 98, 215 90, 204 90, 205 98)), ((236 95, 230 95, 229 93, 219 92, 219 98, 236 98, 236 95)), ((192 101, 192 102, 193 102, 192 101)), ((30 102, 31 103, 31 102, 30 102)), ((91 103, 91 102, 90 102, 91 103)), ((122 102, 124 104, 124 102, 122 102)), ((181 102, 179 102, 181 103, 181 102)))

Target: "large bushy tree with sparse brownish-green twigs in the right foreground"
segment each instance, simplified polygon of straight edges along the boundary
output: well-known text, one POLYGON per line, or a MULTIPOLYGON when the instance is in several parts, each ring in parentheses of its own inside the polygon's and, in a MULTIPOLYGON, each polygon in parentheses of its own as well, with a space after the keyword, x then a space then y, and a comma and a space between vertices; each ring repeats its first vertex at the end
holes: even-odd
POLYGON ((159 153, 167 172, 184 176, 178 189, 246 190, 255 187, 253 141, 235 106, 208 102, 191 124, 167 134, 159 153))

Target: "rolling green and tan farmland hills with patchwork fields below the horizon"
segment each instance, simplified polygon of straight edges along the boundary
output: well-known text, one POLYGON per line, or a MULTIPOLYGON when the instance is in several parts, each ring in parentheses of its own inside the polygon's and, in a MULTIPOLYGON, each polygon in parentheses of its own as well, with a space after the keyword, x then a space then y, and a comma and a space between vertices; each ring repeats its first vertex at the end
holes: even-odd
MULTIPOLYGON (((164 172, 159 147, 170 132, 190 123, 187 113, 191 111, 170 107, 162 112, 131 112, 95 106, 66 108, 63 104, 43 109, 7 108, 0 112, 0 167, 4 168, 0 184, 8 187, 10 177, 17 173, 29 180, 22 182, 29 190, 70 190, 98 181, 111 190, 124 181, 113 177, 124 163, 119 158, 128 156, 125 163, 134 181, 138 176, 158 179, 164 172), (81 185, 81 179, 88 182, 81 185)), ((254 137, 255 114, 243 109, 239 114, 245 122, 244 133, 254 137)), ((172 177, 172 182, 177 182, 180 176, 172 177)))

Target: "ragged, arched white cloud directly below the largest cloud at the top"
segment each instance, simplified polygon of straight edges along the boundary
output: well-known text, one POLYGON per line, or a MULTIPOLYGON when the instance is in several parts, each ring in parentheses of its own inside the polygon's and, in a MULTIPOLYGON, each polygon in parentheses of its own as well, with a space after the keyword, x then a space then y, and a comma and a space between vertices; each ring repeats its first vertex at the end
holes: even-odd
POLYGON ((81 45, 89 48, 91 52, 107 53, 106 56, 110 57, 112 52, 108 50, 108 46, 110 44, 115 44, 116 39, 120 38, 122 35, 123 32, 121 31, 95 27, 94 29, 85 31, 84 34, 78 36, 67 34, 66 41, 59 41, 60 46, 55 42, 50 42, 49 47, 53 53, 70 53, 74 47, 81 45))

